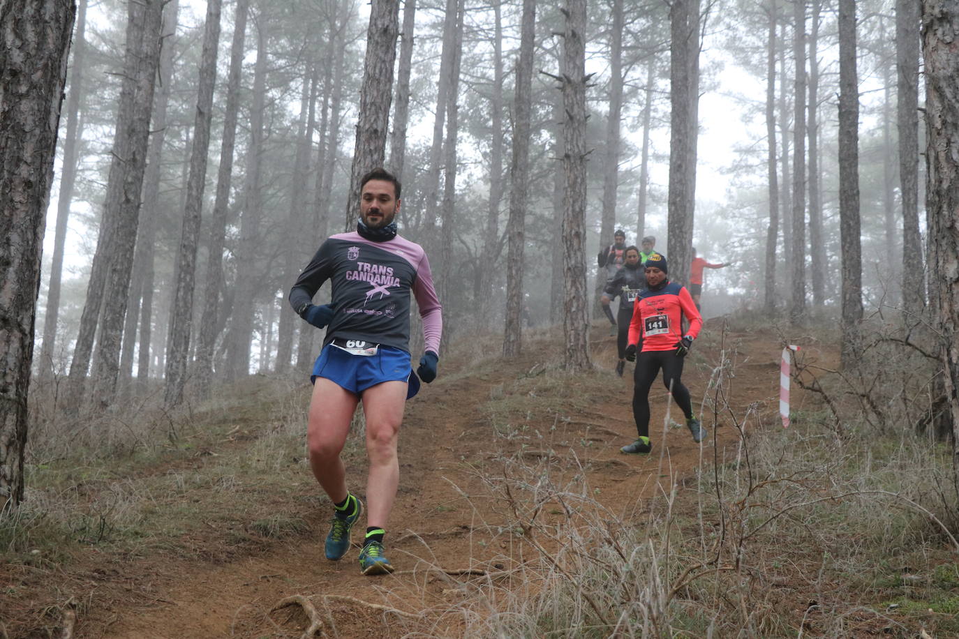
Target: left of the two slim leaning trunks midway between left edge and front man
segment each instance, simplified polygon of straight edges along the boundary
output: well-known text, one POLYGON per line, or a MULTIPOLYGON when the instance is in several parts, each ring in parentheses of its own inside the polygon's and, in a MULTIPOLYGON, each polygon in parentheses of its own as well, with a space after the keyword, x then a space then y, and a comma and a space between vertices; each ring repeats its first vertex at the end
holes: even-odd
POLYGON ((167 410, 183 400, 190 333, 193 329, 193 293, 196 283, 199 221, 206 187, 206 160, 210 152, 210 126, 213 117, 213 89, 217 80, 217 52, 220 47, 220 11, 222 0, 207 0, 203 49, 199 61, 197 115, 194 119, 190 177, 186 186, 186 207, 176 262, 176 291, 170 312, 167 338, 166 385, 163 400, 167 410))

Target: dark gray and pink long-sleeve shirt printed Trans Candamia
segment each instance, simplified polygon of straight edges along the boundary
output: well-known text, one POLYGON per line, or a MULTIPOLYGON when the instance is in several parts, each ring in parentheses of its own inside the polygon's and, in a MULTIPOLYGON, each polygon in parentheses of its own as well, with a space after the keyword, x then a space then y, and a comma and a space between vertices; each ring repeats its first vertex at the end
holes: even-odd
POLYGON ((439 354, 442 307, 423 247, 400 236, 366 240, 356 231, 324 241, 290 290, 290 304, 299 310, 316 291, 333 281, 333 320, 325 346, 334 338, 359 339, 409 353, 409 293, 423 318, 426 350, 439 354))

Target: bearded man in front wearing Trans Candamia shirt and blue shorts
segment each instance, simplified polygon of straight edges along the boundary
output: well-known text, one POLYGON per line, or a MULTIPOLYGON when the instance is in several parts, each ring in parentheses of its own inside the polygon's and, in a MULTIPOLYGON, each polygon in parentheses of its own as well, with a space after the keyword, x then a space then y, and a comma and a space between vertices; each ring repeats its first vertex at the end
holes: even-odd
POLYGON ((317 329, 328 327, 313 367, 313 397, 307 424, 310 467, 335 506, 326 537, 326 559, 342 559, 363 502, 346 489, 339 452, 357 404, 366 418, 366 536, 360 552, 363 575, 393 572, 384 554, 386 520, 399 485, 396 443, 406 400, 419 379, 436 377, 442 315, 430 262, 423 248, 396 235, 400 182, 383 169, 361 180, 357 230, 324 241, 290 290, 296 313, 317 329), (332 280, 331 304, 313 296, 332 280), (410 293, 423 318, 426 353, 417 378, 409 364, 410 293))

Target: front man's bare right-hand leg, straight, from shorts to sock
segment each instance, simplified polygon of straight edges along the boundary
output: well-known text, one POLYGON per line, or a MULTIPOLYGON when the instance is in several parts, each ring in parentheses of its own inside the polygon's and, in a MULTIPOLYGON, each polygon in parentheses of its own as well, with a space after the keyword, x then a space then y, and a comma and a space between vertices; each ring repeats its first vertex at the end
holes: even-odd
POLYGON ((403 409, 407 403, 407 382, 384 381, 363 391, 366 416, 366 525, 385 528, 400 482, 396 456, 403 409))

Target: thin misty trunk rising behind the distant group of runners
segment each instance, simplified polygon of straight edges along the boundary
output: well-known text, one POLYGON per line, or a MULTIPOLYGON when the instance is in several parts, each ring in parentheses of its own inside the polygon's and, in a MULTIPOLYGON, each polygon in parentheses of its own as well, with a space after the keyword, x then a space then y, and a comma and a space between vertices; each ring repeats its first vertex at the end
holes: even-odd
MULTIPOLYGON (((599 243, 606 246, 616 230, 616 200, 620 185, 620 118, 622 113, 622 0, 612 0, 609 29, 609 115, 606 118, 606 153, 603 157, 602 215, 599 243)), ((606 269, 596 271, 593 314, 599 317, 599 297, 606 285, 606 269)))

